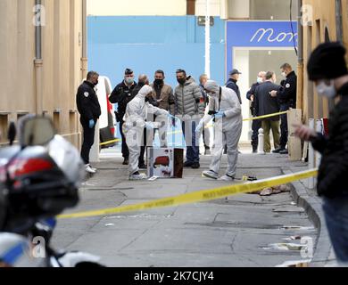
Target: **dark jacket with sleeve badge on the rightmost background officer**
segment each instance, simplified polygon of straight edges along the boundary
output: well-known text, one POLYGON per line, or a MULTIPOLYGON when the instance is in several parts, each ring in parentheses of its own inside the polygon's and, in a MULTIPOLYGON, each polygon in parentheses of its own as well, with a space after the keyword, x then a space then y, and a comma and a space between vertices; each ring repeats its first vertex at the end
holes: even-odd
POLYGON ((281 105, 288 104, 290 108, 296 108, 297 76, 294 71, 290 72, 284 84, 278 91, 278 100, 281 105))

